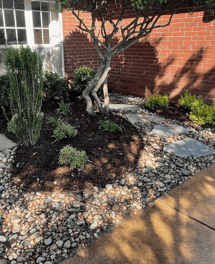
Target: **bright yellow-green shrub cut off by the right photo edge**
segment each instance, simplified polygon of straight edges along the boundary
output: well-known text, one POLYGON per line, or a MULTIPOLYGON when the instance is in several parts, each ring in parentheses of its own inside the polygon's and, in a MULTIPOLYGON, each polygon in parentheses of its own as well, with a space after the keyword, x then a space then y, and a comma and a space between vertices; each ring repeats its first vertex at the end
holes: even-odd
POLYGON ((195 105, 195 108, 190 113, 190 120, 204 125, 208 124, 215 124, 215 105, 208 106, 205 104, 199 103, 195 105))

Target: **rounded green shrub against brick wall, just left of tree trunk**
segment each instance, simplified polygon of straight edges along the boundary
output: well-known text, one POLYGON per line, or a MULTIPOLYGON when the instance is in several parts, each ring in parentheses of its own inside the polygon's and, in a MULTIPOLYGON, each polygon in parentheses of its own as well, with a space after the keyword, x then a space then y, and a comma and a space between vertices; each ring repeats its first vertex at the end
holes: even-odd
MULTIPOLYGON (((74 90, 83 92, 87 86, 88 81, 92 81, 95 77, 96 71, 93 68, 83 66, 74 71, 73 86, 74 90)), ((103 85, 98 89, 98 94, 102 93, 103 85)))

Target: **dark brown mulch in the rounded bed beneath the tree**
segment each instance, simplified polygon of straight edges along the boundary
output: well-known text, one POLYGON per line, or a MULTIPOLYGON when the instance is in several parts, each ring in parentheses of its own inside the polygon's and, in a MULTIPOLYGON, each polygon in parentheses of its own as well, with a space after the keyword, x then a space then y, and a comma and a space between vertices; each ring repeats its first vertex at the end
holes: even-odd
MULTIPOLYGON (((138 131, 124 118, 111 114, 108 119, 123 126, 123 133, 107 132, 99 129, 99 121, 104 116, 97 113, 91 118, 86 112, 86 103, 81 97, 72 103, 72 116, 62 116, 64 122, 74 126, 78 133, 73 138, 55 142, 52 123, 55 119, 56 102, 43 101, 44 113, 42 130, 35 146, 20 145, 12 164, 15 184, 33 191, 78 191, 105 184, 122 177, 132 169, 141 157, 143 142, 138 131), (85 151, 89 158, 82 170, 59 165, 59 152, 70 145, 85 151)), ((7 132, 7 121, 1 113, 0 132, 14 142, 18 138, 7 132)))

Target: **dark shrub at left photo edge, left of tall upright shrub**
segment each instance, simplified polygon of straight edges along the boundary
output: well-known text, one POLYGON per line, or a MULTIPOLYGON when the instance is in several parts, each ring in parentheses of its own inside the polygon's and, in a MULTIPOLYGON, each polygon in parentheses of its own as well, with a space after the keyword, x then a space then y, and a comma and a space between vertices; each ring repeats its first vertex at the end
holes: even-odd
POLYGON ((0 102, 3 106, 10 104, 10 76, 9 74, 0 76, 0 102))

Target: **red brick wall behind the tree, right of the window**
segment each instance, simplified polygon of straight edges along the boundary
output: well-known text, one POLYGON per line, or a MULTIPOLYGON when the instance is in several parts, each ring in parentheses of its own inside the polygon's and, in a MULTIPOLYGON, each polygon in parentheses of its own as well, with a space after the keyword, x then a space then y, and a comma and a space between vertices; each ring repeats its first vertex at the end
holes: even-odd
MULTIPOLYGON (((83 16, 90 19, 87 14, 83 16)), ((139 97, 167 93, 177 103, 187 88, 192 94, 202 95, 207 103, 215 103, 215 16, 202 11, 192 15, 181 13, 173 16, 172 22, 168 27, 153 30, 113 59, 108 79, 110 90, 139 97)), ((72 15, 64 14, 66 76, 71 76, 78 66, 98 66, 92 41, 76 30, 77 24, 72 15)))

